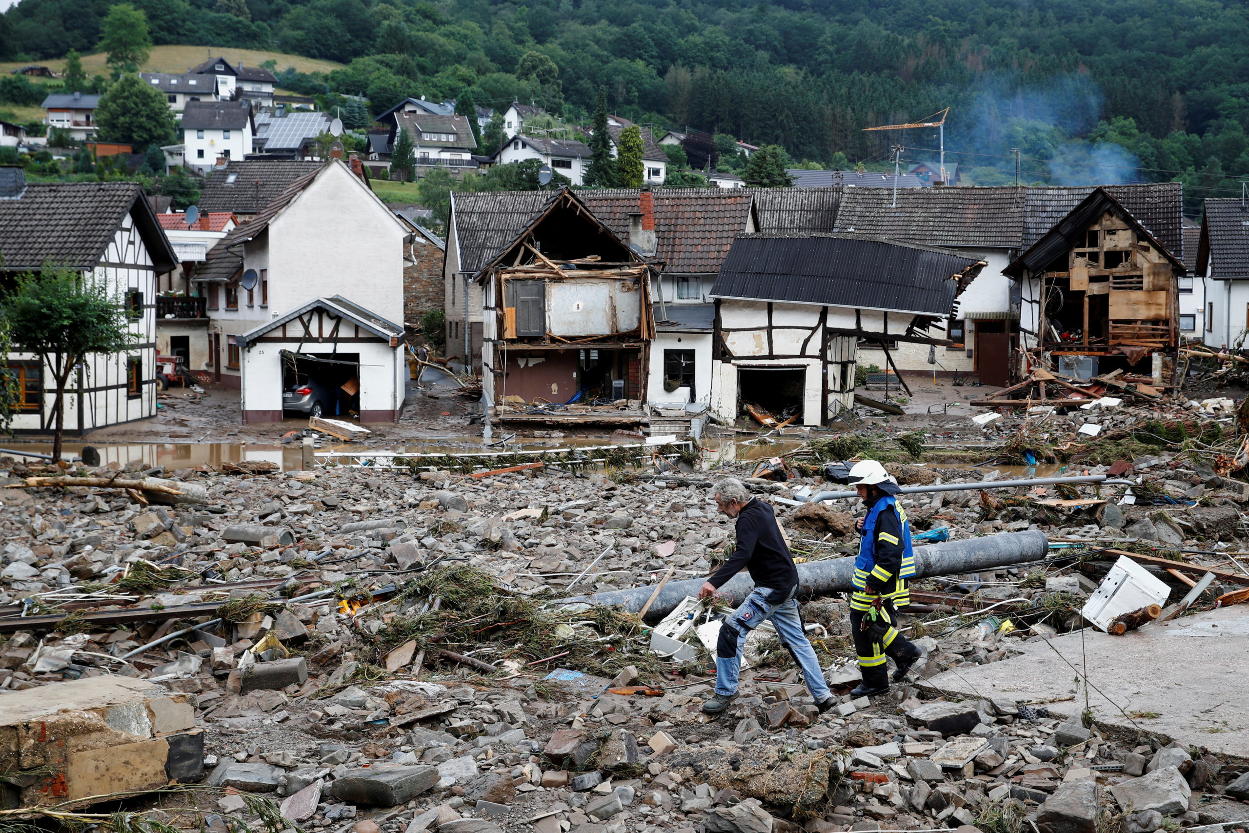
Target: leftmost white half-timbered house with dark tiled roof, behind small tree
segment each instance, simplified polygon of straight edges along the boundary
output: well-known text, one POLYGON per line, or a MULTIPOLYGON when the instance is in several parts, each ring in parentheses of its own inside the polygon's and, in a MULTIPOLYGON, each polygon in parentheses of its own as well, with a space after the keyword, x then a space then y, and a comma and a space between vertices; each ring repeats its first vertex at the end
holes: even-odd
MULTIPOLYGON (((55 265, 104 286, 130 313, 134 343, 89 356, 71 377, 64 425, 84 433, 156 413, 156 287, 176 265, 142 187, 136 182, 30 182, 20 167, 0 169, 0 256, 6 280, 55 265)), ((55 423, 51 368, 39 356, 10 352, 19 400, 12 427, 55 423)))

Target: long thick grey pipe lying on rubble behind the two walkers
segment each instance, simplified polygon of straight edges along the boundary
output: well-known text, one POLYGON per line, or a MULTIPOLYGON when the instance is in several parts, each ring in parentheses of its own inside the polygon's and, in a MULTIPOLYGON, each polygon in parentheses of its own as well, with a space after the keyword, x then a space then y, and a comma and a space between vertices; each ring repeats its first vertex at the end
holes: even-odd
MULTIPOLYGON (((945 541, 943 543, 914 548, 916 578, 957 576, 980 569, 1009 567, 1010 564, 1044 558, 1048 552, 1049 540, 1044 532, 1038 530, 999 532, 998 535, 980 538, 945 541)), ((844 592, 851 589, 851 579, 853 577, 854 558, 809 561, 798 564, 798 586, 801 588, 798 594, 802 598, 813 598, 838 591, 844 592)), ((662 619, 686 596, 697 596, 704 581, 704 578, 691 578, 664 584, 647 612, 646 618, 652 622, 662 619)), ((733 604, 741 604, 752 589, 754 589, 754 582, 751 581, 749 574, 741 572, 721 587, 719 592, 732 596, 733 604)), ((636 613, 642 609, 642 606, 646 604, 646 599, 651 598, 653 591, 654 586, 632 587, 629 589, 566 598, 557 603, 592 602, 595 604, 620 604, 629 613, 636 613)))

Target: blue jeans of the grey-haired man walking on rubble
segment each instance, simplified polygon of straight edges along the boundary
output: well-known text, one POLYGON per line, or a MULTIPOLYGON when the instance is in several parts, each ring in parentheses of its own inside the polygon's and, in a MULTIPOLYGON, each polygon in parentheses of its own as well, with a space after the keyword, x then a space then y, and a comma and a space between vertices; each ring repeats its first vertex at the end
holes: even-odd
POLYGON ((772 626, 777 629, 781 643, 789 649, 789 653, 802 667, 802 676, 811 696, 822 701, 832 693, 828 689, 828 683, 824 682, 824 672, 816 658, 816 649, 811 647, 807 634, 802 631, 802 616, 798 613, 798 601, 794 598, 797 594, 797 584, 792 589, 756 587, 742 602, 742 606, 724 619, 716 644, 717 694, 737 693, 737 678, 742 667, 742 649, 746 648, 746 637, 759 627, 763 619, 772 619, 772 626))

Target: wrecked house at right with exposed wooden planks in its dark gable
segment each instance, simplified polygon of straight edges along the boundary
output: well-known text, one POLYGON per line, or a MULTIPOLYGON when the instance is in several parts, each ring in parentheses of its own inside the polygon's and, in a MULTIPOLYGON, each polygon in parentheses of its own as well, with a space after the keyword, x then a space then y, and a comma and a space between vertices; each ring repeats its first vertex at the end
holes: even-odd
POLYGON ((1084 197, 1004 274, 1020 282, 1022 347, 1032 366, 1175 382, 1184 264, 1109 190, 1084 197))

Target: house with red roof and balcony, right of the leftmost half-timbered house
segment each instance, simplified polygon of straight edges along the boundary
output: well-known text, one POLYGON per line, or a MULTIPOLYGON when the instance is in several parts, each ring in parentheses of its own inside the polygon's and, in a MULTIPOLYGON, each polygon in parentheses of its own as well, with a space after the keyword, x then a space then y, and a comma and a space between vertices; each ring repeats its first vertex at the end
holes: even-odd
POLYGON ((205 211, 195 225, 187 225, 186 215, 181 212, 157 214, 156 219, 179 264, 177 269, 157 280, 156 355, 181 356, 189 368, 202 368, 210 360, 207 298, 196 293, 191 275, 239 221, 229 211, 205 211))

